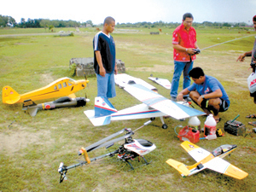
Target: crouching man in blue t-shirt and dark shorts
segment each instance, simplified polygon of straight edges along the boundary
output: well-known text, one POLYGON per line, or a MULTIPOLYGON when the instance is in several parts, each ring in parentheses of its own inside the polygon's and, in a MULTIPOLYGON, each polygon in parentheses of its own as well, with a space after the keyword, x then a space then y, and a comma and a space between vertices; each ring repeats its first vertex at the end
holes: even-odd
POLYGON ((177 95, 177 101, 182 101, 183 96, 189 94, 189 97, 202 110, 209 115, 213 113, 213 117, 218 123, 220 118, 219 112, 224 112, 230 107, 229 96, 218 79, 205 75, 201 67, 195 67, 189 72, 189 77, 194 83, 188 88, 182 90, 177 95))

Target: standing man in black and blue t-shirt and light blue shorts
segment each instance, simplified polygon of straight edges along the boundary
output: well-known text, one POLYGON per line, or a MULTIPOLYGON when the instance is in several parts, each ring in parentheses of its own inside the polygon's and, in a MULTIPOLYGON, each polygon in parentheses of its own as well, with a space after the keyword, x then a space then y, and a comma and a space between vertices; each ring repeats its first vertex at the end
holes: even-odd
POLYGON ((116 96, 113 73, 117 74, 115 63, 115 44, 113 32, 115 20, 107 17, 104 20, 101 32, 93 38, 94 69, 97 77, 97 96, 112 98, 116 96))

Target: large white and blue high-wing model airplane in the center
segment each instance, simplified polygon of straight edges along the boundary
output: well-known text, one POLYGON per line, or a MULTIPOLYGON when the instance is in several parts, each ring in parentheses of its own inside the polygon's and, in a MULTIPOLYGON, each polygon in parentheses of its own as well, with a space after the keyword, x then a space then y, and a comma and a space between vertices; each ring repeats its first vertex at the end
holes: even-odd
POLYGON ((84 111, 93 125, 108 125, 111 120, 160 117, 163 124, 162 128, 166 129, 167 125, 164 122, 164 116, 185 119, 205 114, 195 108, 172 102, 153 90, 148 90, 141 84, 125 84, 124 89, 143 103, 118 112, 106 97, 96 97, 95 110, 84 111))

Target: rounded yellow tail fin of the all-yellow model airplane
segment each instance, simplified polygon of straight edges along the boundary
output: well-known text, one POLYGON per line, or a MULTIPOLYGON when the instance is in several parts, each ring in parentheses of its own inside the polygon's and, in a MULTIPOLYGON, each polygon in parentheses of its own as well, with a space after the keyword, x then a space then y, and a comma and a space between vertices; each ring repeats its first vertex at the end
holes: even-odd
POLYGON ((15 104, 19 102, 20 95, 10 86, 4 86, 2 90, 2 101, 7 104, 15 104))

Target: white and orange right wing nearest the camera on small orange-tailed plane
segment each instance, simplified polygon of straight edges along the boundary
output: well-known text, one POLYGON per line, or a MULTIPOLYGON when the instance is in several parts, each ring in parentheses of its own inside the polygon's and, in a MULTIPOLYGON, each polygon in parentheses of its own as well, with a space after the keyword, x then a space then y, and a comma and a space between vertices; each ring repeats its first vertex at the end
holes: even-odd
POLYGON ((203 166, 211 169, 212 171, 220 172, 224 175, 235 177, 237 179, 242 179, 248 175, 247 172, 242 171, 241 169, 231 165, 229 162, 219 157, 216 157, 213 160, 209 160, 207 163, 203 164, 203 166))

